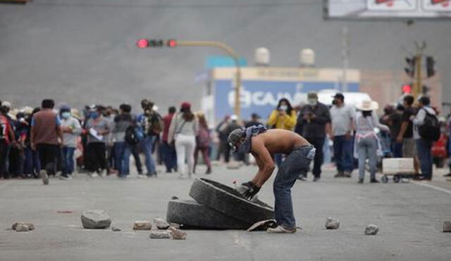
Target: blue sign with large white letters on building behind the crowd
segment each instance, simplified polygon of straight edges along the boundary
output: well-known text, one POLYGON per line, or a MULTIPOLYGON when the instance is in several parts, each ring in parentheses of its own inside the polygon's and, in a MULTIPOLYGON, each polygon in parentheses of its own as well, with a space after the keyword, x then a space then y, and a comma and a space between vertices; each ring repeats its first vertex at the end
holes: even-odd
MULTIPOLYGON (((216 122, 226 115, 233 114, 235 106, 235 90, 232 82, 227 79, 215 80, 214 104, 216 122)), ((306 101, 309 91, 335 89, 336 82, 271 82, 252 81, 242 82, 240 91, 241 117, 248 120, 252 113, 257 113, 266 119, 274 110, 280 98, 288 98, 292 106, 306 101)), ((348 91, 359 91, 359 83, 347 84, 348 91)))

